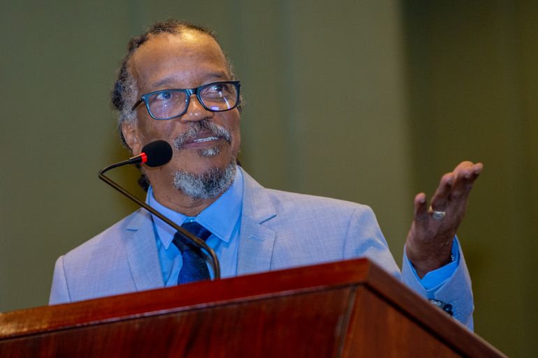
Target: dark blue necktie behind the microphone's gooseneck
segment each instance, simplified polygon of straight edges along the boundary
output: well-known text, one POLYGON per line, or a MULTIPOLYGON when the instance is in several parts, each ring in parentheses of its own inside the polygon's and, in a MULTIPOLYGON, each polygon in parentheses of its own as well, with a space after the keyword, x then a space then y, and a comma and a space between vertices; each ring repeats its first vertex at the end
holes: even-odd
MULTIPOLYGON (((208 229, 194 221, 184 223, 181 227, 203 241, 211 236, 211 232, 208 229)), ((177 276, 177 284, 209 280, 208 265, 205 264, 201 248, 191 244, 191 241, 181 232, 175 233, 173 243, 179 248, 183 259, 180 275, 177 276)))

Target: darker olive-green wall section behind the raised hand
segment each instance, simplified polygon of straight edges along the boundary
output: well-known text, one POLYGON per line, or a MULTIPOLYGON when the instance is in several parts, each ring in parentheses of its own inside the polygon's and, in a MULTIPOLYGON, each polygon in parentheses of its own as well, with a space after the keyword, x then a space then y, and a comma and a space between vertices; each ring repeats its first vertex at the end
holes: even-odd
POLYGON ((460 230, 477 333, 538 357, 538 4, 405 1, 414 188, 484 162, 460 230))

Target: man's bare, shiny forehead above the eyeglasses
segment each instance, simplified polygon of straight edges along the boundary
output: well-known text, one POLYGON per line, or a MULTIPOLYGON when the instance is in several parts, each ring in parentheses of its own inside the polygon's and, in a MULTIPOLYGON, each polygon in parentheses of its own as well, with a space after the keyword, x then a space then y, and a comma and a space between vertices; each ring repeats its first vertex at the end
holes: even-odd
POLYGON ((198 31, 151 36, 133 54, 130 67, 141 93, 231 80, 217 42, 198 31))

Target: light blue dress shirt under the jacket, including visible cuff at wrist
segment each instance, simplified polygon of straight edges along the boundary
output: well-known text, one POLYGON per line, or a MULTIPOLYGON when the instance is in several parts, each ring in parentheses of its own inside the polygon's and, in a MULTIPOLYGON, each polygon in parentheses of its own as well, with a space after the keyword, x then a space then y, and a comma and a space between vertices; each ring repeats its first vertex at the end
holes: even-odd
MULTIPOLYGON (((151 186, 147 191, 146 197, 146 202, 150 207, 153 207, 177 225, 182 225, 187 221, 196 221, 196 223, 203 225, 212 232, 212 235, 206 242, 210 248, 215 250, 219 258, 221 278, 237 276, 242 200, 243 175, 239 168, 230 188, 196 217, 185 216, 161 205, 155 199, 151 186)), ((152 215, 152 219, 155 237, 157 238, 157 250, 159 252, 159 261, 161 262, 163 281, 166 287, 177 285, 177 276, 182 267, 182 258, 180 251, 172 244, 175 230, 157 218, 157 216, 152 215)), ((456 271, 460 262, 458 241, 456 239, 453 241, 452 255, 454 258, 453 262, 434 271, 430 271, 422 279, 419 279, 423 288, 430 293, 435 292, 456 271)), ((404 260, 409 262, 405 254, 404 260)), ((413 267, 410 262, 409 266, 413 267)), ((416 271, 414 269, 412 271, 416 276, 416 271)), ((211 267, 210 272, 213 276, 211 267)))

